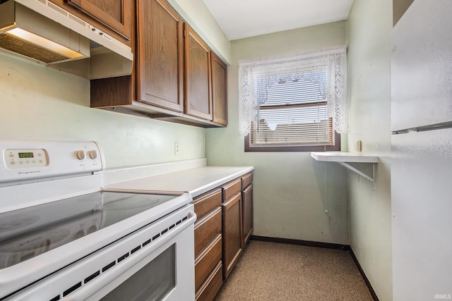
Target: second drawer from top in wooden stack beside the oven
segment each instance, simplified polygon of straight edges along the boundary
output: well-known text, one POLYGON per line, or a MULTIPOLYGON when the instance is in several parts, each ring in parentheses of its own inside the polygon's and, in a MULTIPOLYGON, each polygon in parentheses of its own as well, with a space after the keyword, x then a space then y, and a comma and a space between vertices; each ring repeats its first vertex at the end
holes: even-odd
POLYGON ((216 235, 221 233, 221 208, 218 207, 210 214, 195 223, 195 258, 210 243, 216 235))

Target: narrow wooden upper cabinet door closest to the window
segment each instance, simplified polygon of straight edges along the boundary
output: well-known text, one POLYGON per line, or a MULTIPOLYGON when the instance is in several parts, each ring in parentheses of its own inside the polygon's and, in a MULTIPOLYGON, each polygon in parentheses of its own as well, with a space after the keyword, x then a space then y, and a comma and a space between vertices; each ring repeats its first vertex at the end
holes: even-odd
POLYGON ((212 56, 212 121, 227 125, 227 67, 213 51, 210 55, 212 56))

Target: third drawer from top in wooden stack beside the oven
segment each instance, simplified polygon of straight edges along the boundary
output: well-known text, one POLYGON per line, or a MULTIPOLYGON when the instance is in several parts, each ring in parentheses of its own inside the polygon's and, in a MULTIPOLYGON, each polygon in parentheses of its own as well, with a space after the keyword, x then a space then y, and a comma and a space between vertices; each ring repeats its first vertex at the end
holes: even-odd
POLYGON ((201 287, 210 272, 221 261, 222 239, 221 234, 206 247, 195 261, 195 290, 201 287))

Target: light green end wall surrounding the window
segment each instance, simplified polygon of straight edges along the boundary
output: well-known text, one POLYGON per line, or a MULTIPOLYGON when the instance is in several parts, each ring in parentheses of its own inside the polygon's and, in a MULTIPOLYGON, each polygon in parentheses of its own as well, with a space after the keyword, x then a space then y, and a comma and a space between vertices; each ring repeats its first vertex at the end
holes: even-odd
POLYGON ((206 155, 210 165, 255 166, 254 235, 349 244, 344 168, 314 161, 309 152, 244 152, 237 116, 239 60, 343 44, 345 21, 231 42, 229 124, 206 130, 206 155))

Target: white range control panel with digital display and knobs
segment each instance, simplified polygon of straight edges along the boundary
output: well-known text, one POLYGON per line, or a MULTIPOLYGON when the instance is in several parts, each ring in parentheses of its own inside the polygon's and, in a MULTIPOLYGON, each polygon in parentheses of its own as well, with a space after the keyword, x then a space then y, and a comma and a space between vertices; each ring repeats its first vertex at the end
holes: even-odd
POLYGON ((0 183, 101 171, 97 142, 0 140, 0 183))

